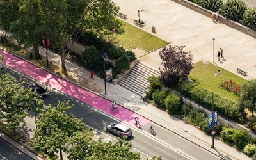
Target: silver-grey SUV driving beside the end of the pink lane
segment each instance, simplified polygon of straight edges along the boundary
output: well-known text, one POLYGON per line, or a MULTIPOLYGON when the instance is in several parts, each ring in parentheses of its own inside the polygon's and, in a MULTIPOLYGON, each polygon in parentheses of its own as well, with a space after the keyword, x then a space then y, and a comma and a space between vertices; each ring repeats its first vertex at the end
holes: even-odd
POLYGON ((107 131, 120 136, 120 138, 123 138, 123 136, 129 137, 132 135, 132 130, 124 124, 110 124, 107 126, 107 131))

